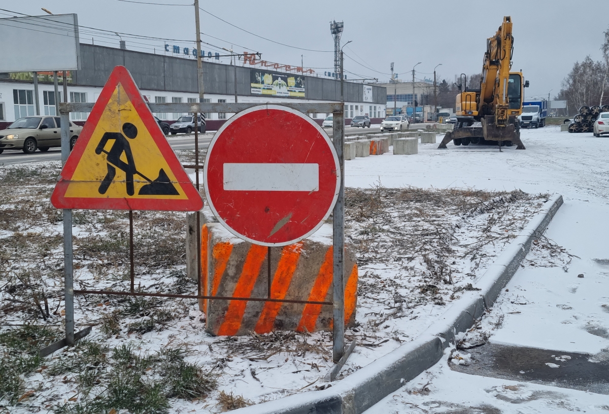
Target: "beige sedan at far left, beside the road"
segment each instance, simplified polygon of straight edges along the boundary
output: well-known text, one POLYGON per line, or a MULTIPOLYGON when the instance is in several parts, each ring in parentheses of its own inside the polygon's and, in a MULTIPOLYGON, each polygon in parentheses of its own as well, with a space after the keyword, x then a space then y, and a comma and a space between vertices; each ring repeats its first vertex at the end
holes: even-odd
MULTIPOLYGON (((61 118, 58 116, 26 116, 0 131, 0 153, 4 150, 23 150, 31 154, 37 149, 62 146, 61 118)), ((70 149, 76 144, 82 127, 70 122, 70 149)))

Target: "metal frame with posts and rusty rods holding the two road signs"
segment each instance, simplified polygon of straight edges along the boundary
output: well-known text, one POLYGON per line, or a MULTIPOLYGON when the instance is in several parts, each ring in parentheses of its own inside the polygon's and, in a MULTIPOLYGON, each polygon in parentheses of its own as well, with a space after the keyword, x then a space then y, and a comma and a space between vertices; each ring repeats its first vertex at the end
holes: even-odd
MULTIPOLYGON (((276 105, 275 103, 273 103, 276 105)), ((91 112, 93 103, 68 103, 62 102, 59 104, 59 112, 62 119, 61 135, 62 135, 62 164, 68 160, 69 147, 69 113, 70 112, 91 112)), ((258 107, 264 103, 149 103, 150 111, 161 113, 238 113, 252 107, 258 107)), ((333 210, 333 301, 298 301, 298 300, 281 300, 270 298, 270 261, 268 272, 268 292, 267 298, 242 298, 233 296, 209 296, 202 295, 201 287, 201 222, 200 212, 197 212, 197 295, 177 295, 171 293, 143 293, 135 292, 135 271, 133 265, 133 211, 129 211, 129 251, 130 251, 130 291, 116 292, 110 290, 74 290, 74 273, 72 268, 72 210, 63 210, 63 248, 64 248, 64 282, 65 282, 65 339, 49 345, 45 348, 46 353, 50 353, 65 345, 73 345, 74 340, 83 337, 88 333, 83 331, 74 333, 74 295, 83 294, 99 294, 99 295, 128 295, 128 296, 161 296, 167 298, 192 298, 206 300, 239 300, 239 301, 264 301, 264 302, 280 302, 280 303, 305 303, 305 304, 320 304, 333 306, 333 360, 339 363, 345 354, 345 307, 344 307, 344 245, 345 245, 345 184, 344 184, 344 156, 343 142, 345 124, 343 122, 343 103, 281 103, 281 106, 292 108, 303 113, 332 113, 334 118, 333 123, 333 141, 334 148, 339 158, 340 164, 340 190, 336 200, 336 205, 333 210)), ((195 118, 196 119, 196 118, 195 118)), ((203 164, 200 164, 199 159, 199 132, 195 127, 194 146, 195 146, 195 164, 188 165, 191 169, 197 171, 195 186, 197 191, 200 191, 199 170, 203 169, 203 164)), ((269 248, 270 249, 270 248, 269 248)), ((270 250, 269 250, 270 251, 270 250)), ((89 328, 90 331, 90 328, 89 328)), ((353 345, 353 343, 351 344, 353 345)), ((347 353, 353 349, 350 349, 347 353)), ((339 363, 340 365, 340 363, 339 363)))

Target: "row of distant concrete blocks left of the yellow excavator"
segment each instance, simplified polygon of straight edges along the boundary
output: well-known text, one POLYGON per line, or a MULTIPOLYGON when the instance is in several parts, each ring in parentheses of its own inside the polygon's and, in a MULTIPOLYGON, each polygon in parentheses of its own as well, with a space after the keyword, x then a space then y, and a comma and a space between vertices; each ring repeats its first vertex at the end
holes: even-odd
POLYGON ((412 155, 418 153, 418 137, 421 144, 435 144, 435 132, 398 132, 386 134, 369 134, 350 136, 345 140, 343 153, 345 161, 369 155, 381 155, 389 152, 393 146, 395 155, 412 155), (365 137, 366 139, 362 139, 365 137))

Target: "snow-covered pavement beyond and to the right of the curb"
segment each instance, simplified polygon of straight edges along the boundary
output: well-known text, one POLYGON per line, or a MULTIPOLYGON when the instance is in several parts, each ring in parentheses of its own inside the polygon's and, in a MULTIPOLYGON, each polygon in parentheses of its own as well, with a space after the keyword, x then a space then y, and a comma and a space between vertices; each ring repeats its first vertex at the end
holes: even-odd
MULTIPOLYGON (((562 194, 565 204, 549 225, 546 236, 577 257, 571 257, 564 267, 546 267, 547 261, 540 259, 537 248, 533 248, 523 262, 524 267, 499 296, 491 315, 483 319, 482 328, 490 335, 491 343, 606 355, 609 350, 607 138, 569 134, 552 126, 523 130, 521 138, 527 150, 504 149, 501 153, 496 147, 449 144, 448 150, 438 151, 432 144, 423 144, 419 152, 426 158, 412 158, 412 162, 411 158, 403 161, 398 157, 387 158, 383 160, 384 175, 365 174, 357 163, 350 163, 347 185, 350 180, 371 184, 380 179, 387 186, 518 188, 562 194), (502 323, 498 323, 498 318, 502 323)), ((609 410, 606 395, 457 373, 448 368, 447 360, 448 355, 368 412, 609 410), (423 387, 428 382, 431 384, 423 387)))

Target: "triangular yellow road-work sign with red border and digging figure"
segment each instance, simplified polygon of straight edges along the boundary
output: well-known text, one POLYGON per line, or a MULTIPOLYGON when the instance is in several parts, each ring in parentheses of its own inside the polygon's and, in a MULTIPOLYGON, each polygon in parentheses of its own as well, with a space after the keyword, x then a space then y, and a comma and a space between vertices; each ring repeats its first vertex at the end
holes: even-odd
POLYGON ((198 211, 203 200, 124 66, 116 66, 55 186, 65 209, 198 211))

